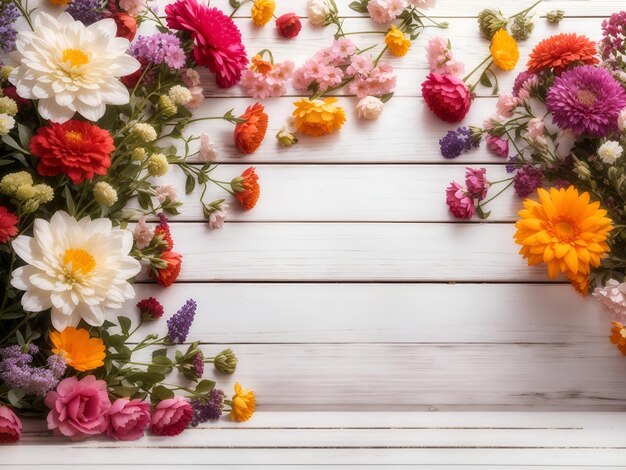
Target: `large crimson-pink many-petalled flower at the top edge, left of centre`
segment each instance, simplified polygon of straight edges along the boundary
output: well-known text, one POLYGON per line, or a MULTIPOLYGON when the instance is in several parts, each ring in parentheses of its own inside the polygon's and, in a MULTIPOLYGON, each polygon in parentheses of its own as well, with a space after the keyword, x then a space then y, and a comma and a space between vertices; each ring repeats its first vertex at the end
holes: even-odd
POLYGON ((165 14, 170 28, 191 35, 194 60, 215 73, 220 87, 239 82, 248 58, 239 28, 232 19, 196 0, 178 0, 165 7, 165 14))

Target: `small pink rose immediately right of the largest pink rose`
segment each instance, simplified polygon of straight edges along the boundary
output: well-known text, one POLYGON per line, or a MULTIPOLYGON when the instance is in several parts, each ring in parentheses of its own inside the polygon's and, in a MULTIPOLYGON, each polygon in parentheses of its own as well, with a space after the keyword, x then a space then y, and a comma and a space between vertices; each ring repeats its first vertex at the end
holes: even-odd
POLYGON ((109 408, 107 434, 118 441, 134 441, 143 437, 150 425, 150 403, 118 398, 109 408))

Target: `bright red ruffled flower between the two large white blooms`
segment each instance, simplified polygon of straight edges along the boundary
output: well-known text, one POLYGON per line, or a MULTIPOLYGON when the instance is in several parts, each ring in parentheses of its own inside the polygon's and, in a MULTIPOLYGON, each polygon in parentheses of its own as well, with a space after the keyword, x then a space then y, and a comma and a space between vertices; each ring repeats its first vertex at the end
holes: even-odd
POLYGON ((37 172, 42 176, 67 175, 74 184, 106 175, 113 150, 111 134, 75 119, 40 127, 30 140, 30 151, 39 157, 37 172))

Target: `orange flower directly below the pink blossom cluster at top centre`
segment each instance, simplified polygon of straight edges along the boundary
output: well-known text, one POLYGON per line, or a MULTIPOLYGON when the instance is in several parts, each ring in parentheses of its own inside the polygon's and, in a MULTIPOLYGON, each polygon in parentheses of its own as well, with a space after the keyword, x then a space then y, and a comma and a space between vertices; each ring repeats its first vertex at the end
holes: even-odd
POLYGON ((326 98, 324 101, 303 98, 296 101, 296 109, 292 113, 296 130, 317 137, 341 129, 346 122, 346 113, 335 105, 337 101, 337 98, 326 98))

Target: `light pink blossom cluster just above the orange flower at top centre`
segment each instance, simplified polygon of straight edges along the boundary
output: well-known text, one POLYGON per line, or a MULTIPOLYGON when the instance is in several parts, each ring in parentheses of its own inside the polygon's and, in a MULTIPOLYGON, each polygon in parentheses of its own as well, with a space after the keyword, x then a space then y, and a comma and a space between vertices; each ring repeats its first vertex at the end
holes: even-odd
POLYGON ((361 99, 391 93, 397 77, 391 65, 374 64, 371 55, 358 54, 356 45, 346 38, 319 51, 296 69, 293 76, 294 87, 301 91, 313 84, 326 91, 348 81, 349 92, 361 99))

